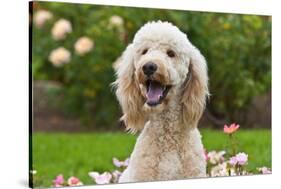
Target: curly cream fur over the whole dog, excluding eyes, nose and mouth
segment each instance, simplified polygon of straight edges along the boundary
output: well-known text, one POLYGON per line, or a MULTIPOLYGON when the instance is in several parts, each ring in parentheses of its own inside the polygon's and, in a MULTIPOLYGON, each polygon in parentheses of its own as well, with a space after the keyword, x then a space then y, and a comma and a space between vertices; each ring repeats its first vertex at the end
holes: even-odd
POLYGON ((115 70, 121 119, 128 129, 141 131, 119 182, 205 177, 197 123, 209 93, 207 66, 200 51, 171 23, 149 22, 136 33, 115 70), (176 56, 167 56, 167 50, 176 56), (172 86, 163 102, 153 107, 146 104, 142 71, 149 61, 158 66, 153 79, 172 86))

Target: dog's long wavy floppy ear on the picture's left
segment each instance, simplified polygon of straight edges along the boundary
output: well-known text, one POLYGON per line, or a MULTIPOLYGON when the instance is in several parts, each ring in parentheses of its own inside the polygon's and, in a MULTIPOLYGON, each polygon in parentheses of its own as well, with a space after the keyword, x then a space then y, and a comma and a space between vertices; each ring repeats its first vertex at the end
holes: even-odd
POLYGON ((130 44, 115 65, 117 80, 113 85, 116 87, 116 96, 123 111, 121 120, 128 130, 135 132, 144 127, 145 118, 142 110, 144 99, 134 74, 133 51, 133 45, 130 44))

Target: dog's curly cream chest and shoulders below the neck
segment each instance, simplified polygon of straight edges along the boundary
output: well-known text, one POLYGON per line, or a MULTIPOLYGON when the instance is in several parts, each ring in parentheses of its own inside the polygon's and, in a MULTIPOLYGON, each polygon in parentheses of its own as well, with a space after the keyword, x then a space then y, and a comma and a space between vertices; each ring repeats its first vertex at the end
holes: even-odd
POLYGON ((146 127, 131 155, 130 181, 175 180, 204 176, 206 165, 198 130, 159 132, 146 127))

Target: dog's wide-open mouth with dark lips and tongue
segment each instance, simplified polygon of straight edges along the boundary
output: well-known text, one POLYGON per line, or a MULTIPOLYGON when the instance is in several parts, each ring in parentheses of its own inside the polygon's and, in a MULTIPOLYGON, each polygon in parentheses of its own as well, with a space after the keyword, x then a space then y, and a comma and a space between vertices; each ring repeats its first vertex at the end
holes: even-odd
POLYGON ((145 84, 146 103, 149 106, 161 104, 172 87, 171 85, 162 85, 160 82, 155 80, 147 80, 145 84))

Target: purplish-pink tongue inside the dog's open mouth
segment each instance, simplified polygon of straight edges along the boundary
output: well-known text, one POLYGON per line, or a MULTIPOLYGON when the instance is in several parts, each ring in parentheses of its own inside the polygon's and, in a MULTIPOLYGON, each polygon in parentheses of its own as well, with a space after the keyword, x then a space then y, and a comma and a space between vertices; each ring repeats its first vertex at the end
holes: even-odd
POLYGON ((147 103, 148 104, 157 104, 160 100, 160 97, 163 95, 163 88, 158 82, 150 82, 147 91, 147 103))

